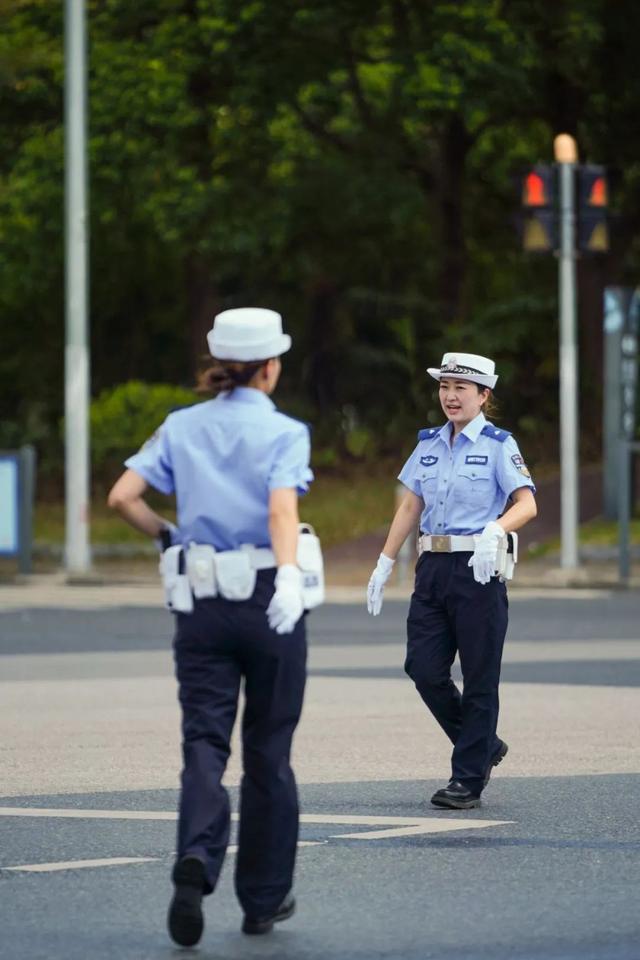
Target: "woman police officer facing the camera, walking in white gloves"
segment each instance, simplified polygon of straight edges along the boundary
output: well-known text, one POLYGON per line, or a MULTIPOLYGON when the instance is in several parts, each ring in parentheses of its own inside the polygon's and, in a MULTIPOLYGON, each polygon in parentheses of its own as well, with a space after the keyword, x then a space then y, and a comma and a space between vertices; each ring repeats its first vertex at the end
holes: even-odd
POLYGON ((380 612, 384 584, 419 519, 405 670, 454 745, 451 780, 431 802, 467 809, 479 806, 491 767, 508 749, 496 735, 507 592, 494 574, 505 534, 536 515, 535 487, 511 434, 485 419, 498 379, 493 361, 445 353, 428 373, 440 383, 448 422, 421 430, 402 468, 407 493, 369 581, 367 606, 380 612), (462 695, 451 680, 456 652, 462 695))

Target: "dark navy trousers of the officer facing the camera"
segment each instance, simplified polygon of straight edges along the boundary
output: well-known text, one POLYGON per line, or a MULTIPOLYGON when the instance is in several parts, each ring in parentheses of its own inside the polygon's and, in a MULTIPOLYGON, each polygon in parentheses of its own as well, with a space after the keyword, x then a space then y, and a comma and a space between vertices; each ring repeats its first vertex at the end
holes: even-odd
POLYGON ((407 618, 405 670, 453 743, 451 774, 480 795, 497 749, 498 684, 507 590, 476 583, 471 553, 423 553, 407 618), (460 656, 463 691, 451 679, 460 656))

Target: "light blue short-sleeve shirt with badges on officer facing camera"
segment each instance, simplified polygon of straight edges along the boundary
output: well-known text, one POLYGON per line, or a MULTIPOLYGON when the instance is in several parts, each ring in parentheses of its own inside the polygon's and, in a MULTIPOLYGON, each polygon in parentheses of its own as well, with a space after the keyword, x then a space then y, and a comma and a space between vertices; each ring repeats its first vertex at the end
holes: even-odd
POLYGON ((503 512, 520 487, 535 493, 518 445, 478 414, 451 446, 452 424, 421 430, 398 479, 424 500, 423 533, 468 536, 503 512))

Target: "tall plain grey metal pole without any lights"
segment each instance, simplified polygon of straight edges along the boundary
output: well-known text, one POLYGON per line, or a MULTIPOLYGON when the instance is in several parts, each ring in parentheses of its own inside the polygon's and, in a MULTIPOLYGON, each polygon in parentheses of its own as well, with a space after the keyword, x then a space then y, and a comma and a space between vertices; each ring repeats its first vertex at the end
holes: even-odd
POLYGON ((89 572, 85 0, 65 3, 65 506, 67 573, 89 572))

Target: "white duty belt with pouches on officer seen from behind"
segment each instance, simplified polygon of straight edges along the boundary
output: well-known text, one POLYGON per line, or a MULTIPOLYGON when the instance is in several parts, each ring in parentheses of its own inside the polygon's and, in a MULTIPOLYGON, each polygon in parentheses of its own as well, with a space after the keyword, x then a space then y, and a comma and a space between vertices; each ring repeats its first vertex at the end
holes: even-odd
MULTIPOLYGON (((312 610, 324 601, 324 564, 320 540, 308 523, 298 527, 296 559, 302 571, 305 610, 312 610)), ((160 556, 165 606, 176 613, 191 613, 194 598, 248 600, 255 590, 258 570, 276 566, 269 547, 250 543, 243 543, 238 550, 222 551, 208 543, 169 547, 160 556)))

